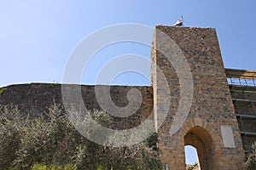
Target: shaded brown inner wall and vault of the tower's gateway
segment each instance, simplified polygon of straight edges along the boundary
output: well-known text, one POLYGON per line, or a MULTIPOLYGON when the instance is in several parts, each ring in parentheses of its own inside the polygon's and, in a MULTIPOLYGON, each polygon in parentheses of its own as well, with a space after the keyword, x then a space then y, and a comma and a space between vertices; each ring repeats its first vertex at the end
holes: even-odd
POLYGON ((201 170, 215 169, 214 145, 210 133, 203 127, 193 127, 184 136, 184 145, 195 147, 201 170))

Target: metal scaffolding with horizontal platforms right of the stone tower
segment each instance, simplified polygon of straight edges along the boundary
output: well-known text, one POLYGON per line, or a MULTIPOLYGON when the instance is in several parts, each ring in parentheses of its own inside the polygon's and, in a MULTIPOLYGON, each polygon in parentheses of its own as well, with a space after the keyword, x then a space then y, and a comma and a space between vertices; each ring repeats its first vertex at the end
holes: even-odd
POLYGON ((225 69, 225 72, 247 152, 256 140, 256 71, 225 69))

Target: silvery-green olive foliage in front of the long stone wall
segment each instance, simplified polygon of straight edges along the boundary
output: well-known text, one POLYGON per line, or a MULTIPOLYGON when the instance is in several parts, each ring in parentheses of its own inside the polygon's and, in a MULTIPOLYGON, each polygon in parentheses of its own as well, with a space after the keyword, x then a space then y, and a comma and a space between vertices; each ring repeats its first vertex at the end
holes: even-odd
MULTIPOLYGON (((110 126, 103 111, 89 111, 83 118, 87 116, 110 126)), ((73 127, 58 105, 38 117, 20 116, 17 107, 0 105, 0 137, 0 167, 7 169, 162 169, 156 134, 132 146, 96 144, 73 127)))

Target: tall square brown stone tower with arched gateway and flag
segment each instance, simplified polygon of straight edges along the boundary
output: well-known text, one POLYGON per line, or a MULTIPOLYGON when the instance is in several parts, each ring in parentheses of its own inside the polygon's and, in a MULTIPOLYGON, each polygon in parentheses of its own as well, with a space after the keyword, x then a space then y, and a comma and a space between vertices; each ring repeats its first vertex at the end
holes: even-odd
POLYGON ((184 146, 202 170, 244 169, 244 151, 215 29, 156 26, 151 48, 161 161, 185 169, 184 146))

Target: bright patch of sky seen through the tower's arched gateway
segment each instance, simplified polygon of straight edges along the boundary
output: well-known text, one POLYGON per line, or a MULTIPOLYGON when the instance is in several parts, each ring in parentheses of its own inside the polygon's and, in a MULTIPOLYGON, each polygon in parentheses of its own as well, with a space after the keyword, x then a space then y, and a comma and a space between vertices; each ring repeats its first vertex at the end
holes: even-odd
POLYGON ((185 146, 186 165, 195 165, 198 163, 196 148, 192 145, 185 146))

